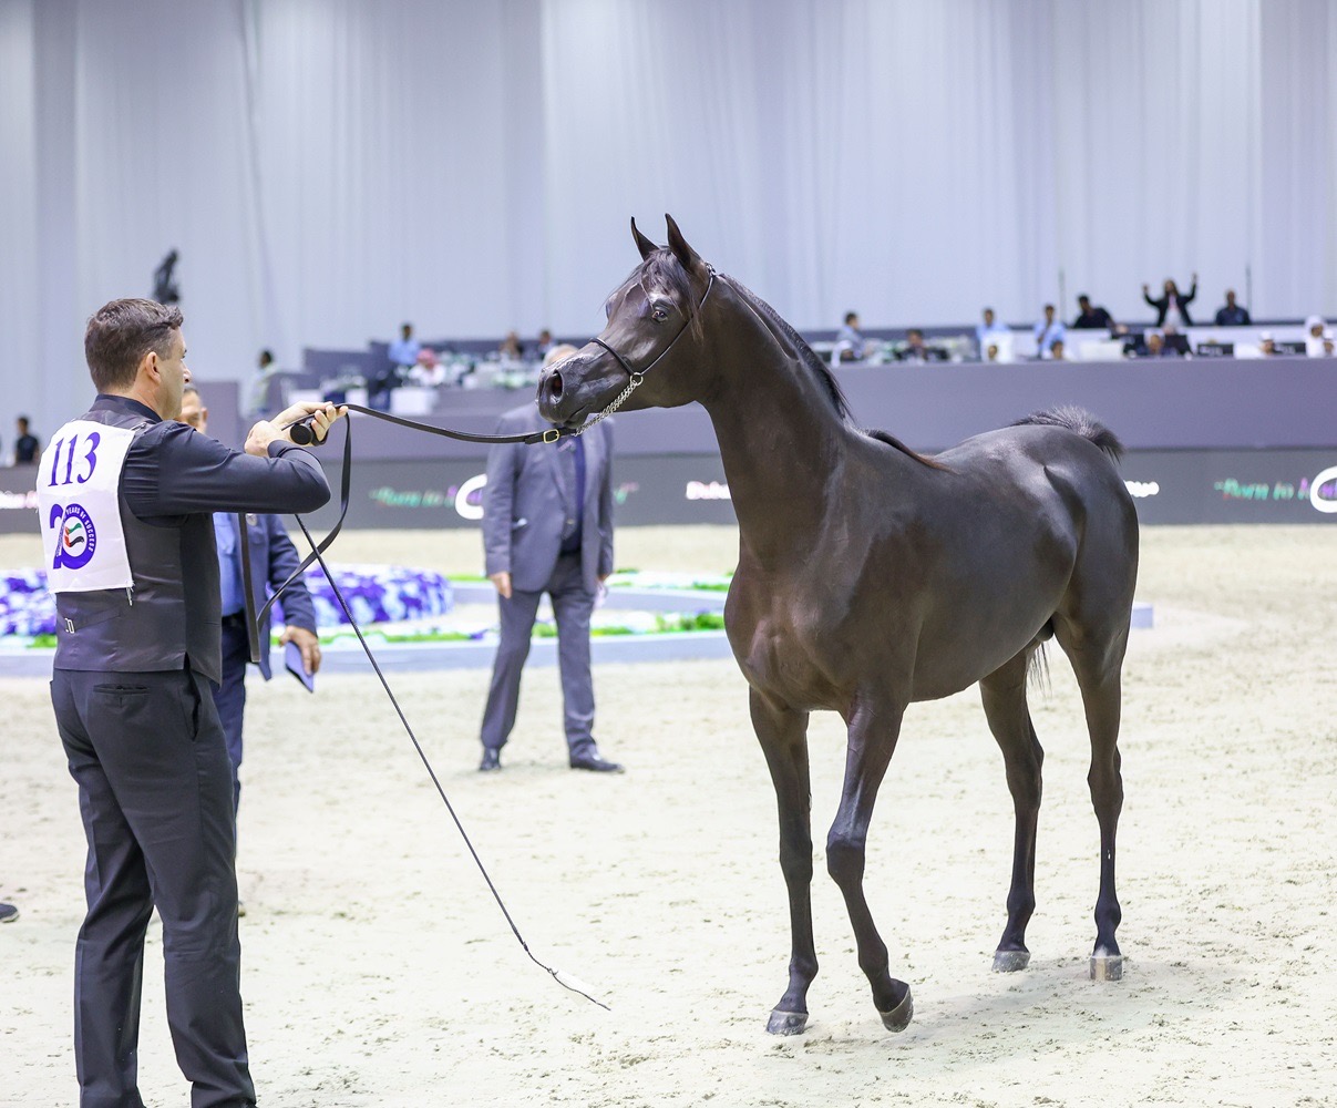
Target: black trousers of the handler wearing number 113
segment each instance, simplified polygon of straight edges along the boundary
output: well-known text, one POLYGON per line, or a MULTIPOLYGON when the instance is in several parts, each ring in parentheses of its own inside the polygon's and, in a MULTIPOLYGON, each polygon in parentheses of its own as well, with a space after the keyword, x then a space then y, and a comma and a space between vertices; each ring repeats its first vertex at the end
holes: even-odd
POLYGON ((142 1108, 144 932, 163 926, 167 1024, 193 1108, 253 1105, 237 937, 231 769, 190 670, 56 670, 56 726, 88 838, 75 953, 80 1108, 142 1108))

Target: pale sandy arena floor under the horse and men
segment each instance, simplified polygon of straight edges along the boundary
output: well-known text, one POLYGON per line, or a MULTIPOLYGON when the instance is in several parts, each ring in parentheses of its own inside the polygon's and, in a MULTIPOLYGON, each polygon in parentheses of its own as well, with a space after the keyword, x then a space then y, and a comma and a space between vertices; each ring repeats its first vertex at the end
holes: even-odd
MULTIPOLYGON (((475 533, 341 537, 340 561, 479 572, 475 533)), ((731 528, 619 532, 619 564, 733 567, 731 528)), ((0 540, 0 565, 37 564, 0 540)), ((566 769, 555 670, 527 676, 505 771, 480 777, 487 672, 396 680, 535 954, 516 944, 373 676, 250 684, 239 874, 261 1103, 362 1105, 1337 1104, 1337 528, 1143 533, 1124 676, 1118 984, 1087 980, 1098 839, 1076 686, 1051 651, 1034 961, 989 972, 1012 810, 973 690, 913 706, 869 843, 869 899, 912 982, 885 1033, 821 843, 836 716, 812 728, 821 973, 805 1036, 766 1014, 789 957, 774 799, 731 662, 607 666, 596 734, 624 777, 566 769)), ((71 965, 83 834, 44 680, 3 679, 0 1103, 76 1100, 71 965)), ((156 925, 151 929, 156 932, 156 925)), ((185 1105, 151 936, 140 1075, 185 1105)))

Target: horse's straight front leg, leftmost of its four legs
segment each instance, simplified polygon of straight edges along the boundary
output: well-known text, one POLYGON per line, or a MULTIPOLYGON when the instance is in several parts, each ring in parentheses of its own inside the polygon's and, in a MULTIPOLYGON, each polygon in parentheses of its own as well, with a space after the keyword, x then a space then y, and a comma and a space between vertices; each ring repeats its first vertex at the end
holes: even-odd
POLYGON ((779 869, 789 889, 793 946, 789 988, 770 1013, 771 1034, 800 1034, 808 1025, 808 986, 817 976, 813 942, 812 787, 808 774, 808 712, 786 708, 755 688, 750 696, 753 728, 766 755, 779 807, 779 869))

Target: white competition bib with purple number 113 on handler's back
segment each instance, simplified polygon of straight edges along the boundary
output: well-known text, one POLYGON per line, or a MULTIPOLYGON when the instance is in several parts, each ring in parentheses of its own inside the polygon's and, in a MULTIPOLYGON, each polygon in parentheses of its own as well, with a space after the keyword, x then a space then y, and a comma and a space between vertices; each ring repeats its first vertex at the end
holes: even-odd
POLYGON ((51 559, 51 592, 130 588, 130 556, 120 525, 120 470, 135 433, 74 420, 41 452, 37 516, 51 559))

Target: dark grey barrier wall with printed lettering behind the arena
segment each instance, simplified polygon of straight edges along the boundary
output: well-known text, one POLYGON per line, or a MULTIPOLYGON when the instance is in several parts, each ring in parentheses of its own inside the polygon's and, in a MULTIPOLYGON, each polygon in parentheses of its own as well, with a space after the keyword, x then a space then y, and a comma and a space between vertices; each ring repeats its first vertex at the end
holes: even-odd
MULTIPOLYGON (((1082 405, 1128 446, 1123 476, 1144 523, 1337 523, 1334 360, 869 366, 838 377, 856 422, 923 450, 1039 408, 1082 405)), ((206 398, 213 414, 213 390, 206 398)), ((532 402, 527 393, 444 401, 433 422, 481 433, 495 430, 500 412, 532 402)), ((366 417, 352 428, 349 527, 476 525, 485 446, 366 417)), ((614 433, 620 524, 733 521, 699 406, 622 413, 614 433)), ((336 488, 341 446, 322 454, 336 488)), ((32 480, 31 470, 0 469, 0 532, 36 531, 32 480)), ((330 505, 316 523, 334 517, 330 505)))

